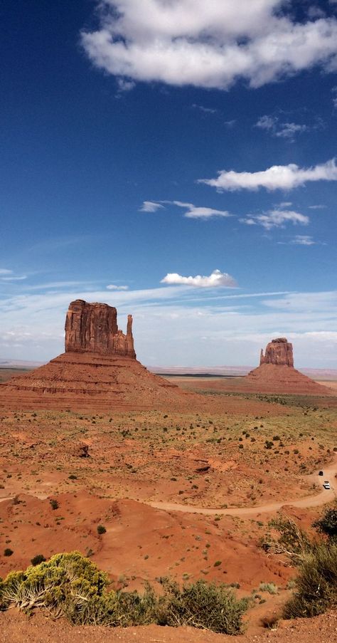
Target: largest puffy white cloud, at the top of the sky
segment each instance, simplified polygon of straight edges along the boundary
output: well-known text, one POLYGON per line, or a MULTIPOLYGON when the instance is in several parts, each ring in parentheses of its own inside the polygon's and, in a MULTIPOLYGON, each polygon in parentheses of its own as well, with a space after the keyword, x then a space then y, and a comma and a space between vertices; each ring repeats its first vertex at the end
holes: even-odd
POLYGON ((337 66, 336 19, 295 21, 283 0, 96 1, 100 25, 82 32, 82 46, 119 78, 226 89, 337 66))

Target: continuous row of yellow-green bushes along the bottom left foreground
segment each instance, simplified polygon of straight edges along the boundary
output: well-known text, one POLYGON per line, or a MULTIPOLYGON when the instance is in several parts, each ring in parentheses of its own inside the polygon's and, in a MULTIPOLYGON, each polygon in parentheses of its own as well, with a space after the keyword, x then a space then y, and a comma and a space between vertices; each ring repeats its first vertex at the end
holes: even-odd
POLYGON ((163 581, 164 595, 150 585, 138 592, 108 590, 107 575, 79 552, 57 554, 25 572, 11 572, 0 583, 0 609, 40 608, 74 624, 142 625, 149 623, 213 629, 240 634, 246 599, 237 600, 223 585, 198 580, 182 589, 163 581))

